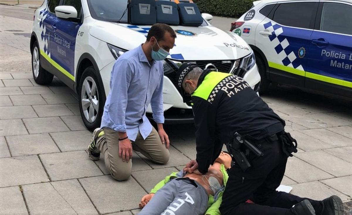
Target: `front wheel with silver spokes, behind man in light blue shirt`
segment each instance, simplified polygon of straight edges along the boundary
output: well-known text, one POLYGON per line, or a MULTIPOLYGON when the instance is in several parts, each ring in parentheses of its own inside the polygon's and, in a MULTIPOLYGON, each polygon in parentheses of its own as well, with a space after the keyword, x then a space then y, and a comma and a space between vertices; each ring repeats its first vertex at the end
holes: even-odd
POLYGON ((103 90, 104 87, 99 85, 94 67, 87 67, 83 71, 77 93, 83 123, 91 131, 100 127, 106 100, 103 90))

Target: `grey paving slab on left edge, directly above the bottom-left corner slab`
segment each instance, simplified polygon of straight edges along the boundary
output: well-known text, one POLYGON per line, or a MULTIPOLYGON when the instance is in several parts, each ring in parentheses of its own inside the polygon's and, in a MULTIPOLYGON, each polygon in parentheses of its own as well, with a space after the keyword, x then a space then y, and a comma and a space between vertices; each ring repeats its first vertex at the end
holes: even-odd
POLYGON ((49 181, 36 155, 1 158, 0 172, 0 187, 49 181))

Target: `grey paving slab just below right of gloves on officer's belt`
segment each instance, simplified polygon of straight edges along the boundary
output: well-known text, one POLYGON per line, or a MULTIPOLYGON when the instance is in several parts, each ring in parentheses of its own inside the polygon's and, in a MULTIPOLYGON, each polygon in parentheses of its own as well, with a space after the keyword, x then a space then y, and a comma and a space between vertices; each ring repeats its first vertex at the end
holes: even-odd
POLYGON ((352 163, 344 161, 325 151, 306 151, 296 153, 295 156, 319 169, 323 169, 335 177, 352 175, 352 163))

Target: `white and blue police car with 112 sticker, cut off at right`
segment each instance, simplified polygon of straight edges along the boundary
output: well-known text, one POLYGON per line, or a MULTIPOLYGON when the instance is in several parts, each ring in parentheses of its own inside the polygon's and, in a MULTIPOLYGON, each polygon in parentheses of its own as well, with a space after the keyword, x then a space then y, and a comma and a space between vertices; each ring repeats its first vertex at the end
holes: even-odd
POLYGON ((263 0, 232 24, 270 82, 351 98, 352 0, 263 0))

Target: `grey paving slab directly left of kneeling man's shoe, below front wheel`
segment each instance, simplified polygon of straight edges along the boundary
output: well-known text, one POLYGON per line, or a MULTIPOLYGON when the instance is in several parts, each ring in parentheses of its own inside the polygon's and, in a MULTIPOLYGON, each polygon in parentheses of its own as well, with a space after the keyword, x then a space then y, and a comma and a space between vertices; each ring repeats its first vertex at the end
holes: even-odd
POLYGON ((61 151, 86 150, 92 138, 92 133, 88 130, 56 132, 50 135, 61 151))

